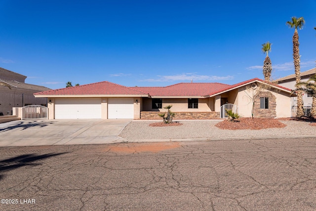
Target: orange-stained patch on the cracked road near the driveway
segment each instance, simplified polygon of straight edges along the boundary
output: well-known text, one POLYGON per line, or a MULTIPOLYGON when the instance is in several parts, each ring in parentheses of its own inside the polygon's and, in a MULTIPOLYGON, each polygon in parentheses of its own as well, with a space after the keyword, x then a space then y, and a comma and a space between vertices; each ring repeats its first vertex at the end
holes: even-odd
POLYGON ((103 151, 124 153, 160 152, 178 147, 180 147, 178 142, 128 143, 109 146, 103 151))

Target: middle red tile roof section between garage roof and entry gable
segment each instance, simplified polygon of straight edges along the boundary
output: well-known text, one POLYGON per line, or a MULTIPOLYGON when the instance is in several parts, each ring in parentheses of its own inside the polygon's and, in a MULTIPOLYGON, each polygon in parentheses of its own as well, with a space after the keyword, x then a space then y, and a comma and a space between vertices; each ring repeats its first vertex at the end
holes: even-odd
POLYGON ((151 96, 205 96, 210 92, 229 87, 220 83, 179 83, 164 87, 133 87, 151 96))

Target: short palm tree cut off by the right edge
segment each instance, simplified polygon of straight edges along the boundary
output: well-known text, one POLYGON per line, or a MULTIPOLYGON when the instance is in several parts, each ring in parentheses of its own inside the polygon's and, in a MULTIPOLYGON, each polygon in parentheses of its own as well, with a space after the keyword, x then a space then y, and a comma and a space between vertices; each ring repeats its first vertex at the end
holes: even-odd
POLYGON ((316 75, 312 76, 307 82, 300 82, 295 85, 296 90, 305 91, 313 97, 311 116, 316 118, 316 75))

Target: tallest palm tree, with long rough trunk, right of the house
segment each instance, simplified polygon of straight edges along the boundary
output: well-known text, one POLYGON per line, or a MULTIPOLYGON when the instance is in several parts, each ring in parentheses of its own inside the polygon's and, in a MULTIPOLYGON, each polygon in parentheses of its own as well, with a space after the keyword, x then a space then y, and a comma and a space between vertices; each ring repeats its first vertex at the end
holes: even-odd
MULTIPOLYGON (((303 17, 292 17, 291 21, 287 21, 286 25, 288 25, 290 28, 294 28, 294 35, 293 35, 293 59, 294 59, 294 68, 295 68, 295 78, 296 83, 301 82, 301 70, 300 70, 300 49, 298 42, 298 32, 297 29, 302 29, 303 25, 305 23, 305 20, 303 17)), ((299 87, 298 87, 299 88, 299 87)), ((303 92, 302 90, 297 91, 297 117, 303 117, 304 116, 304 109, 303 109, 303 92)))

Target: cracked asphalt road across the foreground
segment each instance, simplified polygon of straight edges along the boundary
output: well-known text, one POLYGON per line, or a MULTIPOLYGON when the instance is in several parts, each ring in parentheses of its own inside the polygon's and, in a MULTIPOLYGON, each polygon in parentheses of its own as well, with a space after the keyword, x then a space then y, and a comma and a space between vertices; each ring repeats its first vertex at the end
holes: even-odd
POLYGON ((0 198, 12 211, 315 211, 316 140, 1 147, 0 198))

